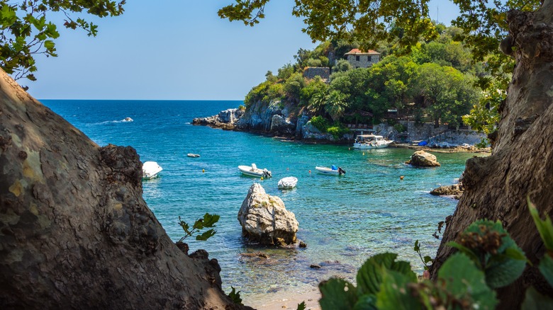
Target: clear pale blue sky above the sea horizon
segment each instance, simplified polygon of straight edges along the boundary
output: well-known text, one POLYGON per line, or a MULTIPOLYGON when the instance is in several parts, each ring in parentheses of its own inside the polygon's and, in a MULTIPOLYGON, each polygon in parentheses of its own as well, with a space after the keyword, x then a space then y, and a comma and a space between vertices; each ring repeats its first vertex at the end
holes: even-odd
MULTIPOLYGON (((231 0, 134 0, 116 18, 89 18, 96 38, 61 30, 59 57, 37 57, 36 82, 21 80, 38 99, 242 100, 274 71, 317 43, 291 15, 293 0, 273 0, 251 28, 217 16, 231 0)), ((457 7, 430 1, 446 25, 457 7)))

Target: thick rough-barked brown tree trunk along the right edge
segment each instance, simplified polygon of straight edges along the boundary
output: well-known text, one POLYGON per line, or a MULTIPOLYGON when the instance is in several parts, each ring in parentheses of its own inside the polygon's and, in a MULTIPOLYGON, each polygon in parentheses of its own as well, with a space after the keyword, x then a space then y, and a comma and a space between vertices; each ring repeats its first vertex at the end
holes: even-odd
MULTIPOLYGON (((508 13, 509 38, 502 50, 516 59, 493 152, 467 161, 465 192, 447 221, 432 276, 453 249, 456 239, 476 219, 503 222, 534 266, 544 245, 527 210, 526 197, 540 213, 553 215, 553 0, 535 12, 508 13), (513 46, 515 49, 510 49, 513 46)), ((534 285, 542 294, 553 290, 536 267, 528 267, 513 285, 498 291, 498 309, 518 309, 525 290, 534 285)))

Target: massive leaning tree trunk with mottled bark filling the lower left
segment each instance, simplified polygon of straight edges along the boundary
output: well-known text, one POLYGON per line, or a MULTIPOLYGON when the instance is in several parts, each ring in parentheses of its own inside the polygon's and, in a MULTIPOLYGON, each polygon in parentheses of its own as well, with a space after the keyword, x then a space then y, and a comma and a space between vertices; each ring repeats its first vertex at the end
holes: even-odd
MULTIPOLYGON (((0 309, 241 309, 142 198, 132 147, 98 147, 0 70, 0 309)), ((175 218, 177 221, 177 218, 175 218)))

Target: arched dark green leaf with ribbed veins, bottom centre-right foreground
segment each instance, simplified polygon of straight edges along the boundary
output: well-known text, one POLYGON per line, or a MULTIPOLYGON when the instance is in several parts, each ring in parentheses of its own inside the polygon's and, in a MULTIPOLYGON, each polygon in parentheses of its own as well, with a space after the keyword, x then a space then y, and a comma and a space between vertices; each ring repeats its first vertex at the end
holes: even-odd
POLYGON ((357 272, 359 296, 379 292, 384 269, 400 272, 406 275, 410 281, 416 282, 417 275, 411 270, 411 265, 403 261, 396 262, 397 256, 395 253, 376 254, 361 266, 357 272))

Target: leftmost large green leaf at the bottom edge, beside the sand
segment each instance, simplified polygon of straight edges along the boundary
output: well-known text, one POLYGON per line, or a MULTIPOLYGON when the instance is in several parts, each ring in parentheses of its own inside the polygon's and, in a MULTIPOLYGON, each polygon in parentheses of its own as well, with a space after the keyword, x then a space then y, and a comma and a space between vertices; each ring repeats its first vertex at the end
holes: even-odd
POLYGON ((357 303, 355 287, 346 280, 332 278, 319 284, 320 308, 325 310, 350 310, 357 303))

